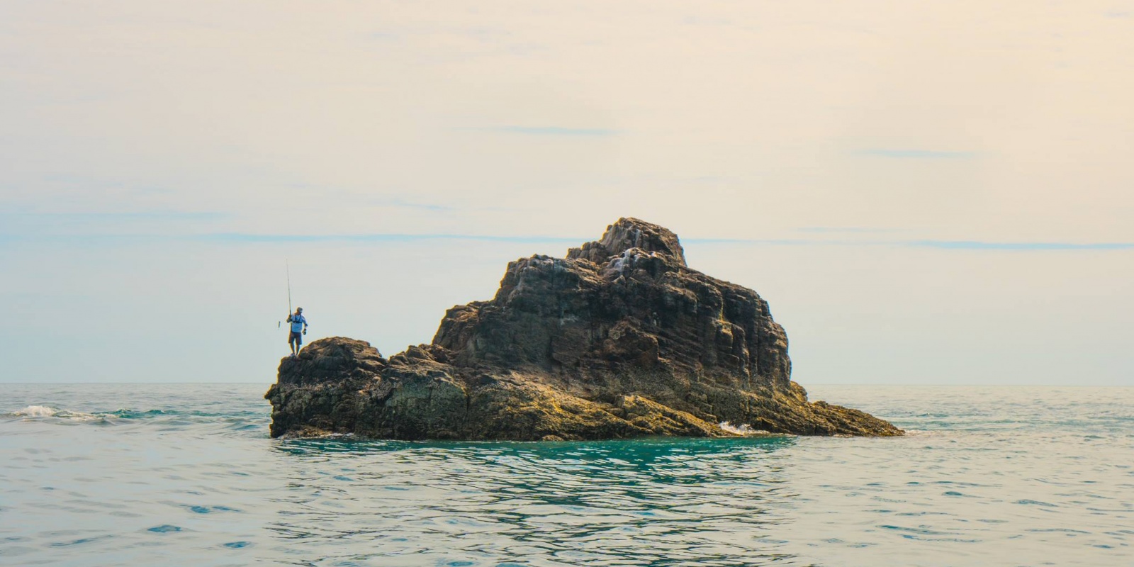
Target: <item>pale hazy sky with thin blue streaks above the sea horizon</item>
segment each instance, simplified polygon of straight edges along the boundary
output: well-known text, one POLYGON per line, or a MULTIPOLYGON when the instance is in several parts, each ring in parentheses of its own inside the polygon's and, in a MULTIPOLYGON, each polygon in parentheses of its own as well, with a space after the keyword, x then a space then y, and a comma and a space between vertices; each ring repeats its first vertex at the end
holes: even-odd
POLYGON ((0 381, 391 355, 620 217, 809 383, 1134 386, 1134 1, 0 0, 0 381))

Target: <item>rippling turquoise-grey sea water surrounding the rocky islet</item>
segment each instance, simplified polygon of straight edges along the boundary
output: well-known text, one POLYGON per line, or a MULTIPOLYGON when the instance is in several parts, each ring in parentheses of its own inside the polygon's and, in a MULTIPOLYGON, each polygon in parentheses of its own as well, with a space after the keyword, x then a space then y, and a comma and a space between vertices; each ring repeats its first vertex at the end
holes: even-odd
POLYGON ((812 387, 899 439, 268 438, 268 384, 0 384, 0 565, 1134 565, 1134 388, 812 387))

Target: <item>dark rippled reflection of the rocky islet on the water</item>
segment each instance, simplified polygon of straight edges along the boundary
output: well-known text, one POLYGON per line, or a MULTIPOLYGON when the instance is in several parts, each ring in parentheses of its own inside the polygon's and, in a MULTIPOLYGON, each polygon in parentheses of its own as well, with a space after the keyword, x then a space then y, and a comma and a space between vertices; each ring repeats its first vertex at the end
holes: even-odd
POLYGON ((792 564, 795 442, 282 441, 269 528, 296 565, 792 564))

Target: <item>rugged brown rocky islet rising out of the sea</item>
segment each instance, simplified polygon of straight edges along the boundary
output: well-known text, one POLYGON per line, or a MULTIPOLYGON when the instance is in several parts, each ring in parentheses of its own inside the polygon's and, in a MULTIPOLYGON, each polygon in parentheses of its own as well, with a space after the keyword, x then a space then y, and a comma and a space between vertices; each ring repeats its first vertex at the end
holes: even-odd
POLYGON ((619 219, 566 259, 508 264, 488 302, 450 308, 430 345, 383 358, 321 339, 280 362, 271 435, 388 439, 898 435, 807 401, 755 291, 685 263, 674 232, 619 219))

